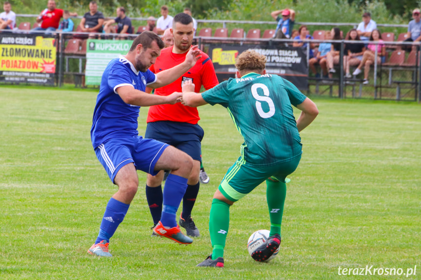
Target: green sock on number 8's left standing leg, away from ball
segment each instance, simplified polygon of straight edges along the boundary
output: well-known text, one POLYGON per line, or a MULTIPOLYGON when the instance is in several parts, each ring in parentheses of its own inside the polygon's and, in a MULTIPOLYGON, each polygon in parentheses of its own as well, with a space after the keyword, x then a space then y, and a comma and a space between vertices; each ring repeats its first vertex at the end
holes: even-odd
POLYGON ((209 216, 209 233, 212 243, 212 260, 223 258, 229 227, 229 204, 214 198, 209 216))

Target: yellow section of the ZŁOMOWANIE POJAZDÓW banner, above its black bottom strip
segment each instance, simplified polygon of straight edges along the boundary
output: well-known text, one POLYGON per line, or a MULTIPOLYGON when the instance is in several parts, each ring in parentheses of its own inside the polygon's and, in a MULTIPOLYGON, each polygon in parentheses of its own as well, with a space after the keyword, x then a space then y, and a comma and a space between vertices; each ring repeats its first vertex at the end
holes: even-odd
POLYGON ((55 73, 55 38, 14 34, 0 37, 0 71, 55 73))

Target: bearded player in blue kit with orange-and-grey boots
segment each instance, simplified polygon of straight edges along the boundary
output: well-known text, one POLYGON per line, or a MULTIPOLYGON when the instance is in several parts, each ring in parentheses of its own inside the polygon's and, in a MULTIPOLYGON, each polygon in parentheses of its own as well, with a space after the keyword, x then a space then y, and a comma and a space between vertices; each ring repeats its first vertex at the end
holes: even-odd
POLYGON ((142 32, 133 41, 125 56, 108 63, 100 85, 91 129, 95 153, 119 189, 108 201, 100 225, 100 232, 88 252, 111 257, 110 238, 123 221, 139 185, 136 170, 155 175, 161 169, 171 170, 163 192, 163 207, 156 234, 178 243, 193 240, 184 236, 176 222, 176 212, 187 188, 187 178, 193 167, 186 153, 162 142, 143 139, 138 135, 140 106, 175 104, 181 93, 155 95, 145 93, 146 85, 159 88, 174 82, 200 59, 194 46, 181 64, 154 74, 148 68, 155 63, 164 43, 153 32, 142 32))

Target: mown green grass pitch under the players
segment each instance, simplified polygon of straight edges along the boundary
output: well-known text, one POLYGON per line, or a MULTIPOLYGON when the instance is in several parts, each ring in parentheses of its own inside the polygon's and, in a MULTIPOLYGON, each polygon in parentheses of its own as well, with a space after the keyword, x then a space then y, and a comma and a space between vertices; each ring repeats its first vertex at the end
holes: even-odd
MULTIPOLYGON (((264 184, 231 207, 225 268, 198 268, 210 252, 212 195, 240 154, 221 106, 200 108, 205 137, 194 209, 201 236, 189 246, 150 236, 145 174, 111 240, 113 258, 87 254, 116 187, 90 142, 96 92, 0 86, 0 279, 420 279, 421 105, 314 99, 320 114, 301 132, 278 257, 253 261, 249 235, 269 229, 264 184), (338 268, 401 268, 416 275, 340 276, 338 268)), ((140 110, 144 134, 147 108, 140 110)), ((298 114, 298 112, 297 112, 298 114)), ((371 269, 373 271, 373 269, 371 269)))

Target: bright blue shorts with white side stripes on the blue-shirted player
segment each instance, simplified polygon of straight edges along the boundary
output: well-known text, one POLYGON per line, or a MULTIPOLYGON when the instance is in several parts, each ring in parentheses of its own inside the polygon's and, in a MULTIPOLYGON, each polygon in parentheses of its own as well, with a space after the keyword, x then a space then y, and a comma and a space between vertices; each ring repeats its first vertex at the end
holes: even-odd
POLYGON ((165 143, 137 136, 108 140, 98 146, 95 153, 114 183, 117 172, 129 163, 134 163, 137 170, 153 176, 158 174, 159 170, 155 171, 154 168, 167 147, 165 143))

